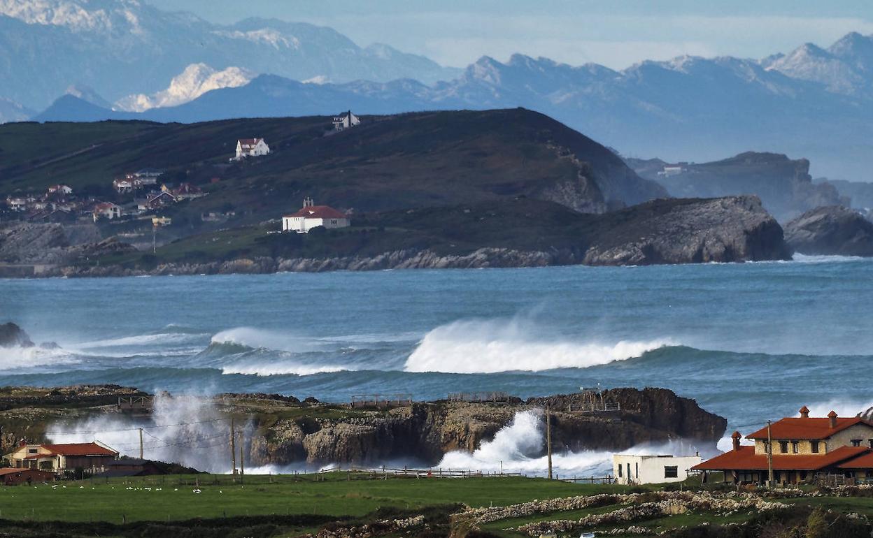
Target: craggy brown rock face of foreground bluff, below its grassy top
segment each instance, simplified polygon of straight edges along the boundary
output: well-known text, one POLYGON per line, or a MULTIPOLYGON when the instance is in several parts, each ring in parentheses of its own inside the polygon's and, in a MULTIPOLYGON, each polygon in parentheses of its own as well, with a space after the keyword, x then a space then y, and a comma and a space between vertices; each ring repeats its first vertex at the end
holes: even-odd
MULTIPOLYGON (((493 439, 516 413, 552 410, 555 450, 624 450, 645 442, 688 439, 714 446, 725 432, 726 421, 700 409, 694 400, 661 389, 615 389, 603 393, 606 401, 621 405, 620 412, 581 413, 571 404, 580 395, 531 398, 509 404, 416 403, 390 410, 347 410, 325 419, 258 422, 251 440, 253 465, 373 464, 385 460, 421 460, 433 465, 443 454, 472 452, 493 439)), ((242 411, 242 408, 240 408, 242 411)), ((324 416, 316 409, 312 416, 324 416)))

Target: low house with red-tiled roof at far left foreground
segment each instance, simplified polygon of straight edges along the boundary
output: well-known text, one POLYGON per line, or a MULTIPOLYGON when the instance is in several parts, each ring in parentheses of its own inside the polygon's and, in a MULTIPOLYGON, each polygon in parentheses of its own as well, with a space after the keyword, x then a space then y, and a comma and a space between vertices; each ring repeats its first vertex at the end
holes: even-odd
POLYGON ((10 467, 37 469, 51 473, 82 469, 100 473, 109 462, 118 458, 118 452, 99 443, 68 443, 64 445, 21 444, 15 452, 6 454, 10 467))

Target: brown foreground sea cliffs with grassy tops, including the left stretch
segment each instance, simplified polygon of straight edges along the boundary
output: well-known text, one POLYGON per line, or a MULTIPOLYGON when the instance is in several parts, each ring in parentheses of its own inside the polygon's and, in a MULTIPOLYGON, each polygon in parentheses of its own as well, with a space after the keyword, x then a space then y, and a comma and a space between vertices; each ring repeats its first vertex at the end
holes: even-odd
MULTIPOLYGON (((46 426, 61 422, 124 417, 120 396, 141 396, 116 385, 0 389, 0 447, 18 439, 41 441, 46 426)), ((434 465, 450 451, 472 452, 491 440, 519 412, 551 409, 555 451, 623 450, 645 442, 687 439, 714 446, 726 421, 705 412, 691 399, 664 389, 613 389, 603 401, 615 412, 581 412, 578 394, 506 403, 416 402, 393 408, 350 408, 307 399, 267 394, 223 394, 210 398, 217 416, 244 426, 246 465, 375 464, 416 460, 434 465)), ((145 410, 148 412, 148 410, 145 410)), ((133 420, 133 418, 129 418, 133 420)), ((148 420, 148 416, 138 416, 148 420)), ((93 424, 93 423, 89 423, 93 424)), ((117 427, 117 423, 113 422, 117 427)), ((542 436, 543 432, 533 432, 542 436)))

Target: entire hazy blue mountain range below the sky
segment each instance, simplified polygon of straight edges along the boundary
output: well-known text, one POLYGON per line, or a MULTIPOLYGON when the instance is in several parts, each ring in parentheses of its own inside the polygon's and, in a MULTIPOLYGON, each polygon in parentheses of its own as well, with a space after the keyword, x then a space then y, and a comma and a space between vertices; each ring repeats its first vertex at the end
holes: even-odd
POLYGON ((79 50, 90 51, 88 47, 103 43, 99 37, 105 40, 107 35, 113 51, 127 47, 123 58, 112 52, 87 69, 79 65, 76 77, 66 76, 64 69, 46 77, 49 70, 32 60, 0 62, 0 76, 3 69, 17 75, 32 68, 52 79, 51 91, 45 89, 45 80, 38 85, 45 91, 31 92, 27 85, 33 77, 18 77, 17 89, 3 90, 2 97, 39 109, 51 100, 49 95, 80 83, 100 88, 107 98, 103 100, 114 103, 101 106, 96 99, 68 93, 32 116, 40 121, 194 122, 350 108, 386 114, 523 106, 629 157, 706 161, 754 150, 807 158, 814 175, 873 180, 873 36, 850 33, 828 49, 804 44, 760 60, 685 56, 615 71, 516 54, 506 62, 483 57, 458 71, 387 45, 361 48, 333 30, 310 24, 249 19, 217 26, 133 0, 0 0, 0 56, 16 51, 15 43, 28 51, 18 58, 53 62, 53 53, 38 47, 61 46, 72 39, 79 50), (22 11, 22 4, 55 7, 22 11), (61 11, 61 5, 68 7, 61 11), (87 8, 90 16, 75 6, 87 8), (98 12, 105 17, 94 15, 98 12), (10 36, 7 28, 28 38, 10 36), (113 32, 118 35, 112 37, 113 32), (113 65, 123 64, 118 67, 123 72, 124 66, 133 69, 142 62, 148 69, 137 76, 113 72, 110 80, 100 79, 113 65), (229 69, 238 70, 239 76, 204 84, 210 75, 202 73, 229 69), (194 76, 189 76, 192 70, 194 76), (261 74, 251 78, 254 73, 261 74), (247 78, 251 81, 246 83, 247 78), (34 102, 37 96, 41 100, 34 102))

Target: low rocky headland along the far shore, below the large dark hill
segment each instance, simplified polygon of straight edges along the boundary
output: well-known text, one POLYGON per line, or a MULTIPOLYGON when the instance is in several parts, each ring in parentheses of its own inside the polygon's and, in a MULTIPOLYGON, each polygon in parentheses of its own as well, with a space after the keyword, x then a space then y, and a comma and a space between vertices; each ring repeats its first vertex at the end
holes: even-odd
POLYGON ((183 239, 157 256, 60 267, 58 276, 212 275, 373 269, 784 260, 782 228, 755 196, 660 199, 602 215, 519 198, 366 215, 346 230, 269 234, 269 226, 183 239), (235 235, 235 236, 231 236, 235 235), (228 244, 203 260, 203 245, 228 244), (171 253, 164 255, 165 252, 171 253), (247 254, 247 255, 244 255, 247 254), (225 258, 225 256, 227 256, 225 258), (230 257, 233 256, 233 257, 230 257), (216 259, 217 258, 217 259, 216 259), (155 263, 156 262, 156 263, 155 263))

